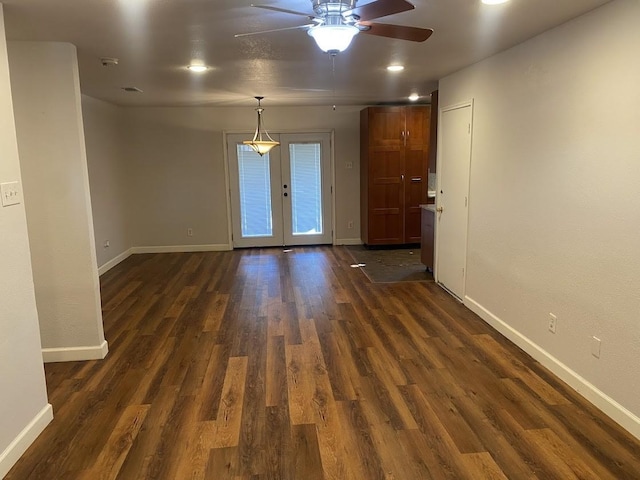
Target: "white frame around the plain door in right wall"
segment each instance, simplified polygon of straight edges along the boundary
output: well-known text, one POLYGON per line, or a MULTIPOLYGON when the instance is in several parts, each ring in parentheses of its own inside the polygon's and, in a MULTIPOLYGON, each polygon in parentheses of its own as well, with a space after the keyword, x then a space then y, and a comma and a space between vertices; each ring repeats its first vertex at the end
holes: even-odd
POLYGON ((440 243, 440 234, 439 234, 439 229, 438 229, 438 224, 440 223, 440 218, 439 218, 439 214, 437 211, 437 208, 439 208, 441 206, 441 198, 440 198, 440 185, 442 183, 442 149, 439 148, 437 150, 436 153, 436 199, 435 199, 435 205, 436 205, 436 213, 435 213, 435 222, 434 222, 434 235, 435 235, 435 241, 434 241, 434 264, 433 264, 433 278, 435 280, 435 282, 441 287, 444 288, 447 292, 449 292, 453 297, 458 298, 462 303, 464 303, 464 299, 466 296, 466 291, 467 291, 467 260, 468 260, 468 251, 469 251, 469 210, 471 208, 471 198, 469 195, 470 189, 471 189, 471 161, 473 159, 473 129, 474 129, 474 101, 473 99, 467 100, 467 101, 463 101, 460 103, 455 103, 452 105, 446 105, 443 107, 440 107, 438 109, 438 141, 437 141, 437 145, 442 145, 442 116, 444 113, 452 111, 452 110, 458 110, 461 108, 466 108, 466 107, 470 107, 471 108, 471 131, 469 132, 469 182, 467 184, 467 188, 466 188, 466 193, 467 193, 467 218, 465 219, 465 238, 464 238, 464 272, 462 275, 462 294, 461 294, 461 298, 458 298, 457 295, 455 295, 453 292, 451 292, 449 289, 447 289, 442 283, 440 283, 439 278, 438 278, 438 270, 439 270, 439 261, 440 261, 440 256, 439 256, 439 252, 438 252, 438 245, 440 243))

